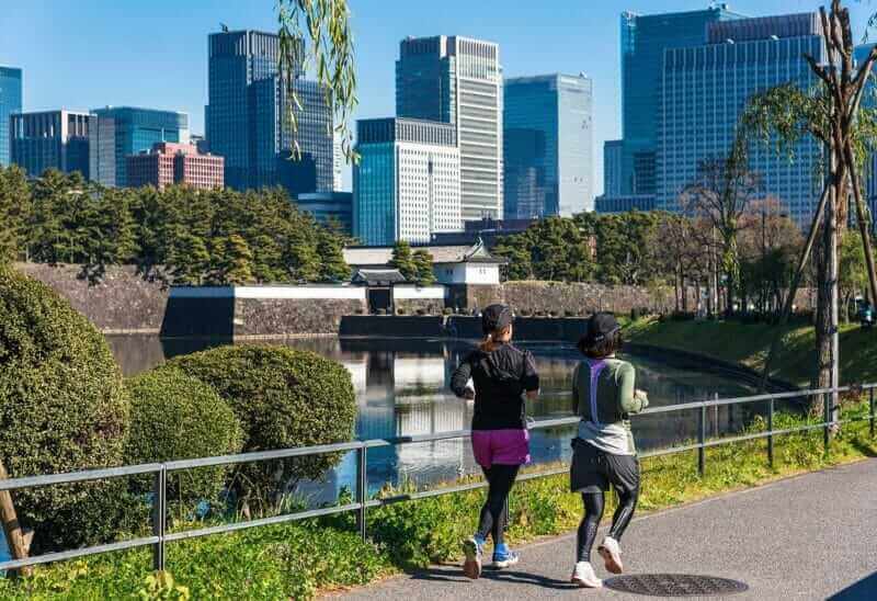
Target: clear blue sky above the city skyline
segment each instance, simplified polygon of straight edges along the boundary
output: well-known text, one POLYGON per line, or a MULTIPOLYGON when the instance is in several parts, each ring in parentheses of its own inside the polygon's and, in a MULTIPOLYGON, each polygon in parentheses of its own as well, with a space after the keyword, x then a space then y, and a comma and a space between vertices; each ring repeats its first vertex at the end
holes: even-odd
MULTIPOLYGON (((350 0, 356 117, 395 111, 394 61, 407 35, 458 34, 500 44, 506 76, 578 73, 594 80, 595 192, 603 140, 618 137, 618 14, 698 10, 707 0, 350 0)), ((752 16, 806 12, 818 0, 729 1, 752 16)), ((847 1, 856 35, 877 0, 847 1)), ((204 133, 207 34, 275 30, 274 0, 3 0, 0 64, 24 68, 25 111, 133 104, 189 113, 204 133)), ((345 183, 350 185, 346 174, 345 183)))

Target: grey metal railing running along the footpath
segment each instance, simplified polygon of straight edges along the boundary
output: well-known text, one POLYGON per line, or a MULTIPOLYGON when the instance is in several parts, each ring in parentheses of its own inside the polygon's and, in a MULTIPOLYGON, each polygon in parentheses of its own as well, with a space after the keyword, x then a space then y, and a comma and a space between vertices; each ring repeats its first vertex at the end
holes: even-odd
MULTIPOLYGON (((779 393, 779 394, 767 394, 767 395, 758 395, 758 396, 749 396, 749 397, 733 397, 733 398, 726 398, 719 399, 715 398, 711 400, 704 400, 697 402, 685 402, 679 405, 669 405, 664 407, 650 407, 647 408, 641 413, 637 413, 636 416, 631 416, 634 419, 639 419, 642 416, 656 416, 660 413, 671 413, 677 411, 693 411, 698 410, 698 424, 697 424, 697 443, 691 444, 683 444, 680 446, 670 446, 667 449, 659 449, 654 451, 649 451, 646 453, 640 453, 639 456, 645 457, 656 457, 660 455, 672 455, 676 453, 685 453, 690 451, 697 451, 697 468, 699 474, 703 476, 706 469, 706 450, 714 446, 720 446, 726 444, 733 444, 738 442, 744 441, 752 441, 758 439, 767 439, 767 462, 771 466, 774 464, 774 439, 775 436, 784 435, 784 434, 793 434, 797 432, 807 432, 812 430, 823 430, 823 442, 825 445, 825 451, 829 450, 830 443, 830 432, 832 428, 838 427, 841 423, 848 423, 853 421, 863 421, 868 420, 869 424, 869 432, 870 435, 874 436, 875 433, 875 389, 877 388, 877 384, 867 384, 861 386, 842 386, 839 388, 822 388, 822 389, 812 389, 812 390, 799 390, 793 393, 779 393), (868 415, 864 418, 854 418, 854 419, 832 419, 834 415, 833 409, 835 407, 831 406, 831 397, 834 393, 842 394, 842 393, 868 393, 869 399, 869 410, 868 415), (805 399, 813 396, 822 396, 823 397, 823 407, 824 407, 824 419, 819 423, 808 423, 795 428, 786 428, 782 430, 774 430, 774 413, 775 413, 775 404, 777 400, 796 400, 796 399, 805 399), (710 407, 720 407, 720 406, 729 406, 729 405, 743 405, 743 404, 754 404, 754 402, 767 402, 768 410, 767 410, 767 429, 763 432, 754 432, 748 434, 740 434, 733 436, 724 436, 714 440, 707 440, 706 435, 706 423, 707 423, 707 409, 710 407)), ((539 420, 535 423, 531 424, 532 430, 542 430, 547 428, 558 428, 565 426, 572 426, 579 422, 579 418, 571 417, 571 418, 560 418, 560 419, 547 419, 547 420, 539 420)), ((103 545, 95 545, 90 547, 83 547, 72 551, 65 551, 58 553, 47 553, 44 555, 38 555, 35 557, 27 557, 24 559, 12 559, 8 562, 0 563, 0 571, 2 570, 15 570, 27 566, 34 566, 38 564, 48 564, 52 562, 62 562, 67 559, 73 559, 76 557, 83 557, 88 555, 96 555, 100 553, 107 553, 113 551, 123 551, 135 547, 145 547, 151 546, 152 547, 152 567, 156 570, 163 570, 166 566, 166 546, 168 543, 172 543, 175 541, 183 541, 186 538, 195 538, 198 536, 209 536, 212 534, 220 534, 220 533, 228 533, 238 530, 249 529, 249 528, 257 528, 263 525, 271 525, 271 524, 280 524, 284 522, 292 522, 296 520, 304 520, 308 518, 317 518, 321 515, 331 515, 338 513, 345 513, 349 511, 356 512, 356 523, 357 530, 360 535, 365 537, 367 534, 366 531, 366 518, 367 518, 367 510, 371 508, 387 506, 391 503, 402 502, 402 501, 410 501, 415 499, 425 499, 429 497, 436 497, 441 495, 451 495, 454 492, 460 492, 466 490, 475 490, 478 488, 487 487, 486 481, 472 481, 466 483, 462 485, 451 486, 451 487, 442 487, 442 488, 434 488, 430 490, 410 492, 405 495, 398 495, 394 497, 385 497, 385 498, 376 498, 369 499, 367 495, 367 478, 366 478, 366 467, 368 462, 368 450, 376 449, 376 447, 384 447, 384 446, 391 446, 396 444, 415 444, 415 443, 426 443, 426 442, 437 442, 437 441, 448 441, 448 440, 457 440, 457 439, 465 439, 469 438, 470 432, 468 430, 458 430, 453 432, 442 432, 437 434, 420 434, 420 435, 411 435, 411 436, 397 436, 391 439, 380 439, 380 440, 367 440, 367 441, 354 441, 354 442, 345 442, 339 444, 324 444, 318 446, 307 446, 300 449, 285 449, 278 451, 264 451, 258 453, 243 453, 239 455, 223 455, 217 457, 205 457, 205 458, 197 458, 197 460, 183 460, 183 461, 173 461, 167 463, 152 463, 152 464, 144 464, 144 465, 134 465, 134 466, 126 466, 126 467, 112 467, 107 469, 90 469, 86 472, 73 472, 68 474, 56 474, 50 476, 33 476, 33 477, 23 477, 23 478, 11 478, 5 480, 0 480, 0 491, 2 490, 18 490, 23 488, 34 488, 34 487, 43 487, 43 486, 52 486, 52 485, 61 485, 61 484, 73 484, 73 483, 82 483, 82 481, 90 481, 90 480, 100 480, 100 479, 107 479, 107 478, 119 478, 119 477, 127 477, 127 476, 137 476, 137 475, 145 475, 151 474, 152 475, 152 512, 151 512, 151 522, 152 522, 152 535, 151 536, 141 536, 139 538, 133 538, 128 541, 119 541, 116 543, 103 544, 103 545), (244 522, 230 522, 226 524, 219 524, 214 526, 206 526, 201 528, 197 530, 189 530, 182 532, 167 532, 167 488, 168 488, 168 474, 173 472, 181 472, 185 469, 193 469, 200 467, 215 467, 221 465, 238 465, 242 463, 251 463, 251 462, 263 462, 263 461, 272 461, 272 460, 285 460, 289 457, 303 457, 309 455, 320 455, 326 453, 338 453, 338 452, 355 452, 356 453, 356 496, 355 501, 351 503, 346 503, 343 506, 337 507, 327 507, 320 509, 311 509, 307 511, 298 511, 295 513, 287 513, 282 515, 274 515, 270 518, 261 518, 254 520, 248 520, 244 522)), ((556 476, 559 474, 563 474, 568 470, 568 467, 559 467, 559 468, 551 468, 546 470, 526 473, 519 477, 519 480, 529 480, 535 478, 544 478, 548 476, 556 476)))

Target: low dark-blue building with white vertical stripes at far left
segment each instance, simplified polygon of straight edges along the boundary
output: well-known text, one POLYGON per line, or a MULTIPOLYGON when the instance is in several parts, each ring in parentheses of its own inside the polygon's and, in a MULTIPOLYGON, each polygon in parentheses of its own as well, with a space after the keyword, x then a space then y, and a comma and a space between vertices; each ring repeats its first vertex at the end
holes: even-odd
POLYGON ((37 178, 46 169, 79 171, 89 178, 89 113, 44 111, 20 113, 10 121, 11 162, 37 178))

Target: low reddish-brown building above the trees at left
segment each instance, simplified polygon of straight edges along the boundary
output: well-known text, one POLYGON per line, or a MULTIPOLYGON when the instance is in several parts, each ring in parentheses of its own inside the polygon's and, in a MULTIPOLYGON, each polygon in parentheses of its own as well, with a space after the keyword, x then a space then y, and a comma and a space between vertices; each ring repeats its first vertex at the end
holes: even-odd
POLYGON ((223 188, 223 157, 203 155, 192 144, 162 141, 125 160, 130 188, 152 185, 161 190, 173 184, 200 190, 223 188))

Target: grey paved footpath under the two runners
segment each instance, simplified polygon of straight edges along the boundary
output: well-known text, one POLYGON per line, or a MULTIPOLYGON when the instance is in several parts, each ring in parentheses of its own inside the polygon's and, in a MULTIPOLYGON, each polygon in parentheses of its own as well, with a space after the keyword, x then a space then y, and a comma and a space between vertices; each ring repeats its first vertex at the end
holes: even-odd
MULTIPOLYGON (((572 588, 574 541, 568 534, 525 546, 516 567, 478 581, 467 580, 459 566, 436 566, 344 598, 647 598, 572 588)), ((627 574, 694 574, 749 585, 728 599, 877 600, 877 460, 643 515, 630 524, 623 547, 627 574)))

